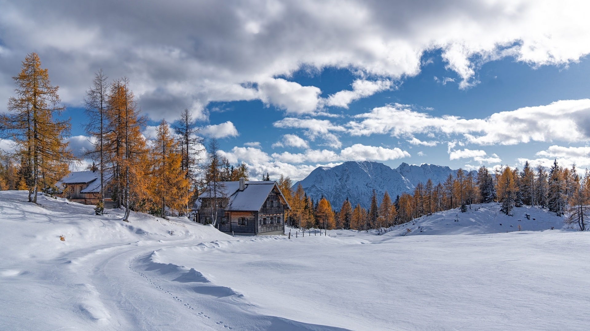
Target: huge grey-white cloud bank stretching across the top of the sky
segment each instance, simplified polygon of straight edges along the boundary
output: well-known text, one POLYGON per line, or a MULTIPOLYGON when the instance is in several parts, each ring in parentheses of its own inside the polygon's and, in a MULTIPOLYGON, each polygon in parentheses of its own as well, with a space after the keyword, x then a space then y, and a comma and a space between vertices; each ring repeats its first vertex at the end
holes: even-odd
POLYGON ((348 68, 375 77, 356 78, 365 90, 353 84, 352 91, 329 97, 343 107, 378 91, 375 82, 417 75, 426 65, 422 55, 433 49, 457 74, 460 88, 477 84, 478 68, 503 57, 533 67, 579 61, 590 53, 588 6, 553 0, 171 0, 142 6, 9 0, 0 11, 0 100, 12 91, 10 77, 20 61, 35 49, 67 104, 81 104, 93 72, 104 68, 113 78, 130 78, 152 118, 173 120, 183 108, 206 117, 209 102, 235 100, 309 114, 319 105, 319 89, 289 81, 302 68, 348 68))

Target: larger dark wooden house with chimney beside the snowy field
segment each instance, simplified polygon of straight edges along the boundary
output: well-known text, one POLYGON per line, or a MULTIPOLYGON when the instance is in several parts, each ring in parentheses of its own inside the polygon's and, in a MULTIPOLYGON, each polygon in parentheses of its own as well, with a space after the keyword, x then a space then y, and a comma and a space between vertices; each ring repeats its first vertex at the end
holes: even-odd
POLYGON ((217 214, 215 227, 228 234, 284 234, 284 213, 290 207, 275 181, 240 178, 216 186, 221 189, 209 183, 199 195, 193 207, 195 221, 211 224, 217 214))

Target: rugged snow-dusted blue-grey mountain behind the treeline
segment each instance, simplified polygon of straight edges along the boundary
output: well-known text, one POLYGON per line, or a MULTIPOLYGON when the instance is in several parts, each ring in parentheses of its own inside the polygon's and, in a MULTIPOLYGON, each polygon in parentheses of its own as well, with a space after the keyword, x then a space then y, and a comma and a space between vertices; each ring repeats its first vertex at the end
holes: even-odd
POLYGON ((436 185, 444 182, 451 173, 455 176, 457 170, 434 164, 411 166, 402 163, 392 169, 378 162, 349 161, 331 168, 318 167, 309 176, 295 183, 293 188, 297 188, 301 183, 307 195, 313 200, 324 196, 336 210, 340 209, 346 198, 353 207, 359 203, 360 206, 368 208, 371 205, 373 189, 378 202, 381 202, 385 191, 394 200, 398 194, 412 193, 419 182, 426 183, 430 178, 436 185))

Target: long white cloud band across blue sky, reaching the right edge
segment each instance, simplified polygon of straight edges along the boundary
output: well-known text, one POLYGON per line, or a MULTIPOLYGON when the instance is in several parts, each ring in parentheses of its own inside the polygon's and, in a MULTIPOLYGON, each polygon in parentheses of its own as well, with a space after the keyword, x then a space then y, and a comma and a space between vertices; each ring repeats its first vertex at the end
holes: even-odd
POLYGON ((513 145, 529 141, 579 142, 590 138, 590 100, 562 100, 549 105, 502 111, 487 118, 432 116, 393 104, 356 115, 348 123, 351 135, 460 134, 479 145, 513 145))

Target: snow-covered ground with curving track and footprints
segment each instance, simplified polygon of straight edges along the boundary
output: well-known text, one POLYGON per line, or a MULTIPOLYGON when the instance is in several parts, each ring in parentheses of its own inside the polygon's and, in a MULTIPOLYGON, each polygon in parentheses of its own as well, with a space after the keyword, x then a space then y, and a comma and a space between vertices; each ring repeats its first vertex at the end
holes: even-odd
POLYGON ((234 238, 145 214, 124 223, 118 210, 94 216, 92 206, 25 200, 25 192, 0 191, 0 330, 590 325, 589 233, 546 230, 561 229, 561 219, 538 208, 507 217, 497 204, 474 205, 381 236, 334 230, 288 239, 234 238))

